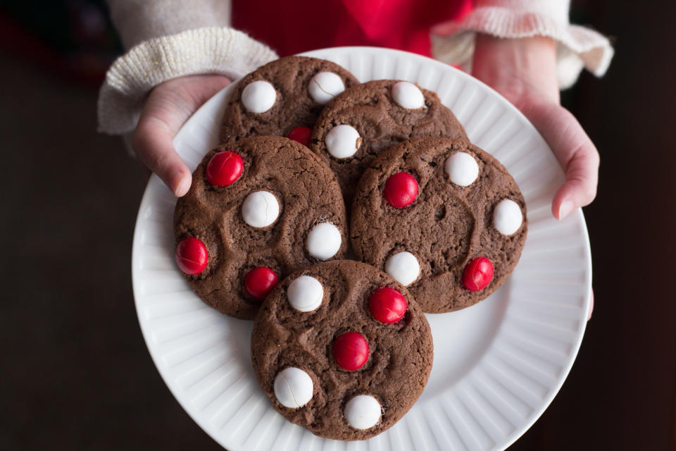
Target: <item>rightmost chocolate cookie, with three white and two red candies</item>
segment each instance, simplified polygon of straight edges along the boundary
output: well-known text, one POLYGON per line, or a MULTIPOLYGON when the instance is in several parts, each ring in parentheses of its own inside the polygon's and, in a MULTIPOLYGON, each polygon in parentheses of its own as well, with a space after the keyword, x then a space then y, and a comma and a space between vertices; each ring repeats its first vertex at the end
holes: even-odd
POLYGON ((373 161, 352 206, 358 259, 406 285, 429 313, 468 307, 516 266, 526 204, 487 152, 461 140, 417 138, 373 161))

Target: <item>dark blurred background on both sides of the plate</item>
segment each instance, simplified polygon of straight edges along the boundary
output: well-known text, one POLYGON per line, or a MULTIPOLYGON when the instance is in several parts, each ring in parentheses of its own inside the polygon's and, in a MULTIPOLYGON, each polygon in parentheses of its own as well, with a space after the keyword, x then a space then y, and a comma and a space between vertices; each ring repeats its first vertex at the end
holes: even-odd
MULTIPOLYGON (((675 450, 676 2, 573 0, 613 37, 563 101, 601 152, 584 209, 596 309, 560 393, 510 450, 675 450), (652 4, 650 4, 652 3, 652 4)), ((0 2, 0 449, 219 450, 164 385, 131 285, 147 180, 96 97, 104 1, 0 2)))

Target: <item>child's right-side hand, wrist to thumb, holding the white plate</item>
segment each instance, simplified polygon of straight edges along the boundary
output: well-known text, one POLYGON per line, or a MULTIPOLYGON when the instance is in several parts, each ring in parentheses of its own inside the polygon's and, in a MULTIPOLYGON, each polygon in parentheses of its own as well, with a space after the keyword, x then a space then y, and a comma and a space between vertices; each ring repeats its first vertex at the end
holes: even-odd
POLYGON ((472 75, 511 101, 535 125, 565 170, 551 202, 562 219, 596 197, 599 152, 575 116, 560 104, 556 42, 547 37, 500 39, 477 35, 472 75))

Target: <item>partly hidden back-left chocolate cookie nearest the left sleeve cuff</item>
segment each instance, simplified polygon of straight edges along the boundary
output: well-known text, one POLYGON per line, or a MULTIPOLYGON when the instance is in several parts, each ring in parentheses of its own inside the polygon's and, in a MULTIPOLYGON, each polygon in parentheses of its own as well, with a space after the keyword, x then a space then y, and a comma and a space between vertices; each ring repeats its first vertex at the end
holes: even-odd
POLYGON ((220 142, 251 136, 303 135, 311 130, 328 101, 346 87, 357 85, 354 75, 336 63, 306 56, 287 56, 254 70, 237 83, 223 113, 220 142))

